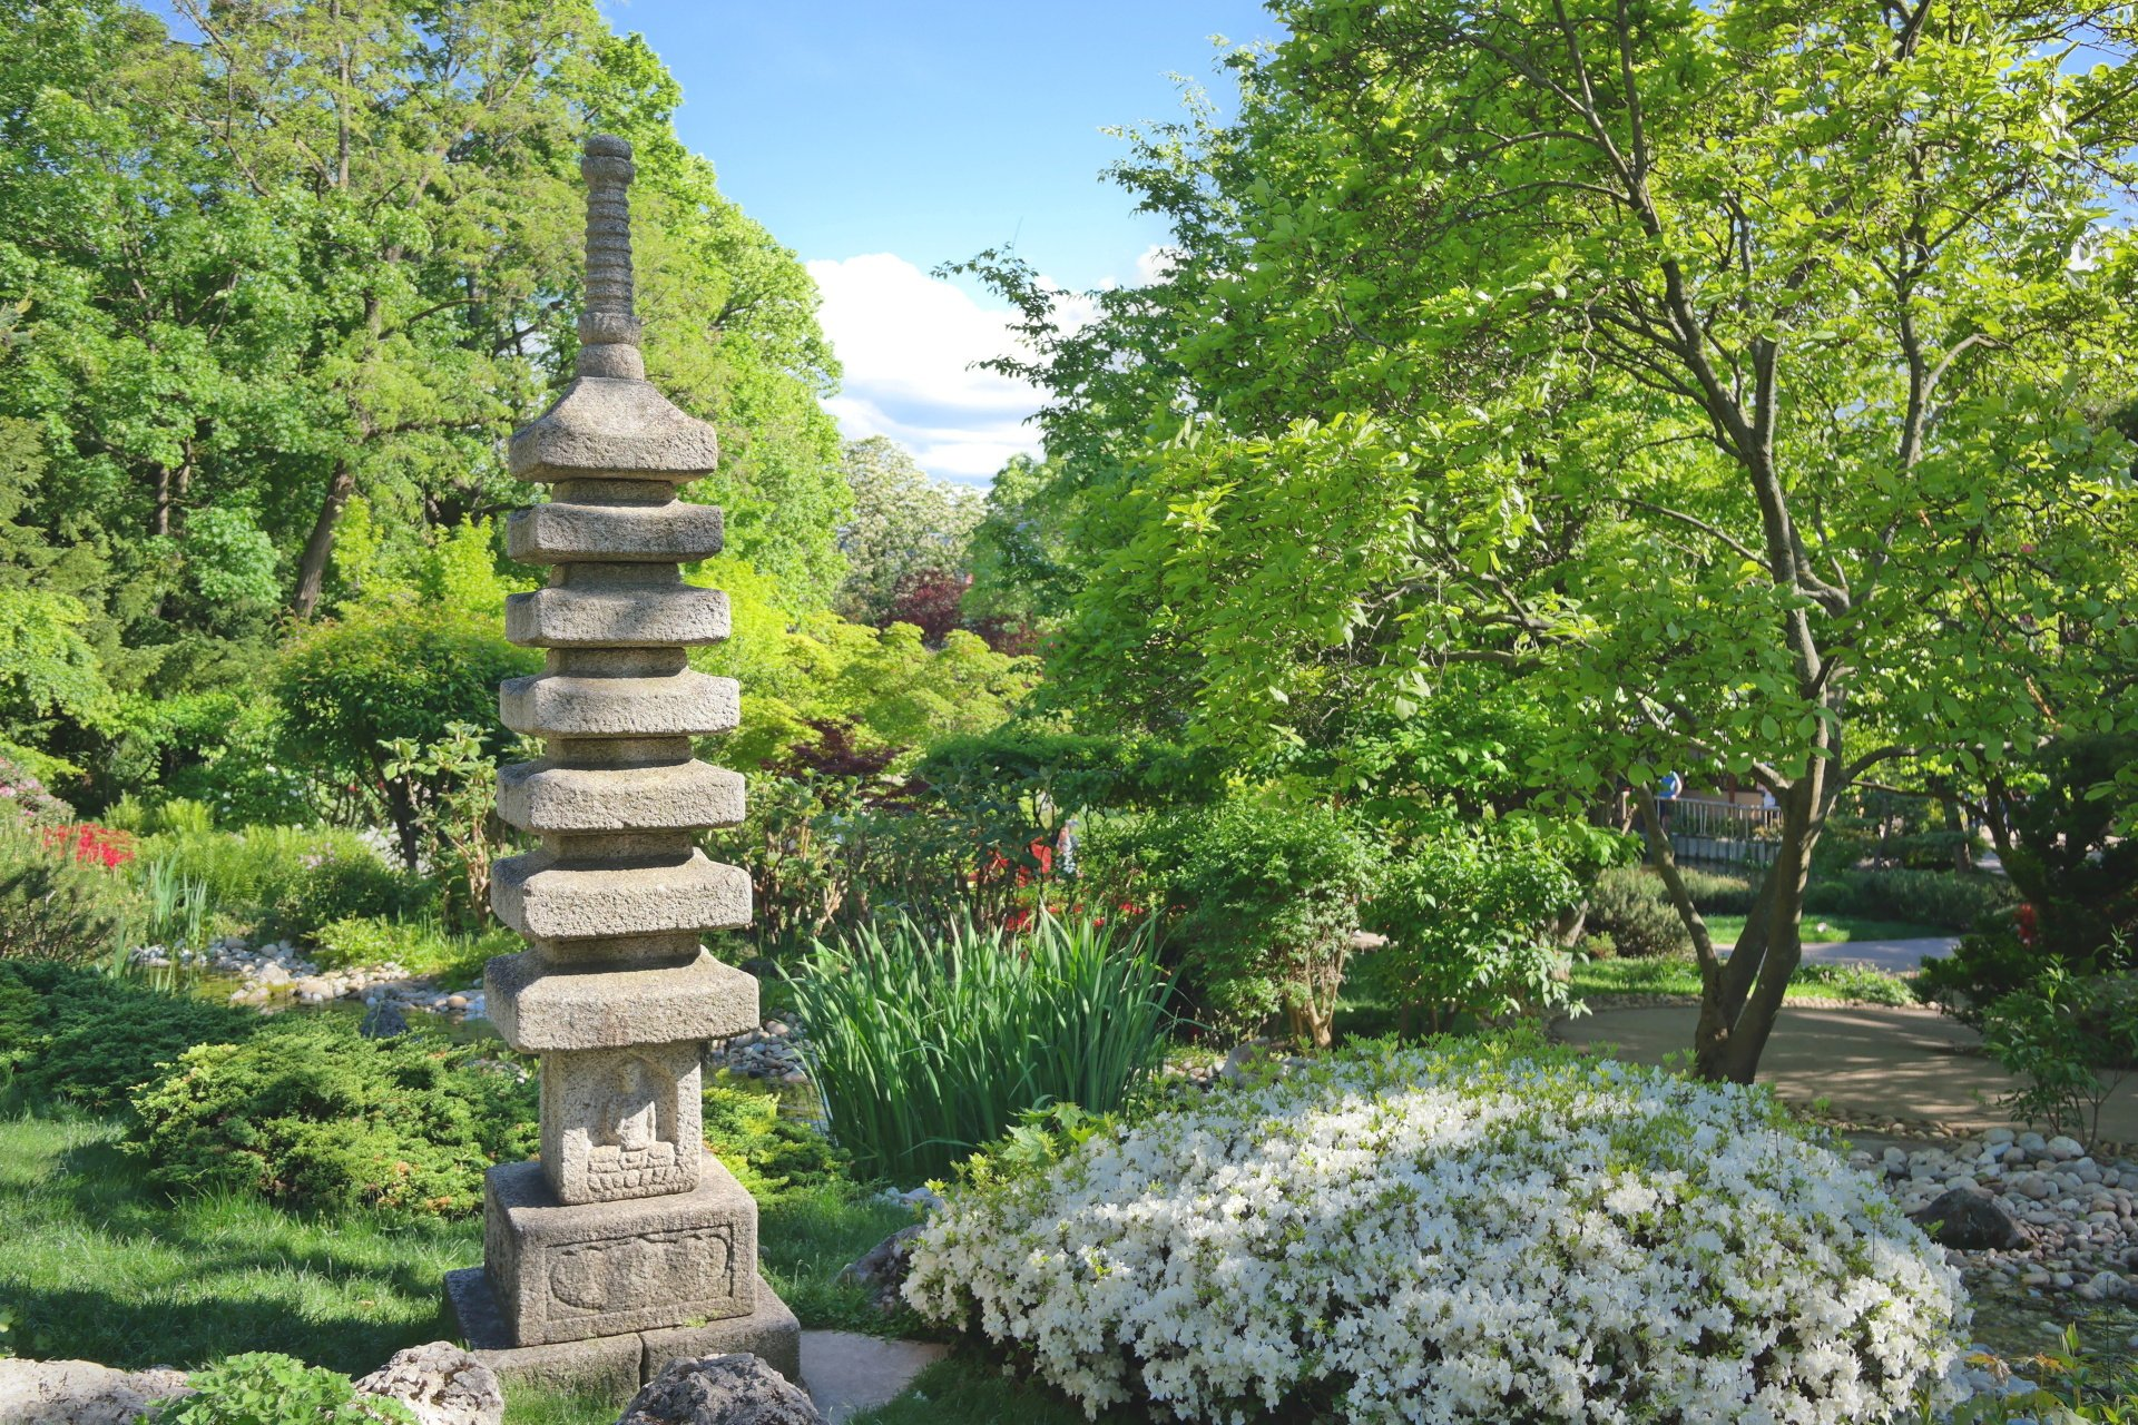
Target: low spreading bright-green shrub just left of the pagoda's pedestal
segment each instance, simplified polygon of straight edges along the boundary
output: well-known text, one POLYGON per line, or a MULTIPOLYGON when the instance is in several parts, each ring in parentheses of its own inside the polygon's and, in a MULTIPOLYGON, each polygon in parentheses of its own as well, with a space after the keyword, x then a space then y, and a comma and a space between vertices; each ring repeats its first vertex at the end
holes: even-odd
POLYGON ((135 1094, 128 1147, 171 1192, 468 1213, 483 1169, 537 1141, 534 1085, 483 1053, 421 1032, 363 1038, 342 1015, 286 1015, 244 1045, 180 1055, 135 1094))

